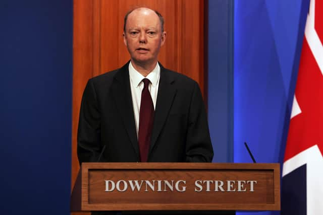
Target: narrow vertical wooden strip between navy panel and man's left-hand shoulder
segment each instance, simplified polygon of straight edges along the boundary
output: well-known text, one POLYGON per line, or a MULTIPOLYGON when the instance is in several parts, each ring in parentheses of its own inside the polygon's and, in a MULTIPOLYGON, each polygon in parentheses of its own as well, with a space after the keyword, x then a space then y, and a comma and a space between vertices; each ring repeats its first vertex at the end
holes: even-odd
MULTIPOLYGON (((72 187, 79 171, 76 145, 81 99, 87 80, 93 77, 92 1, 74 1, 73 20, 72 187)), ((72 214, 90 215, 90 213, 72 214)))

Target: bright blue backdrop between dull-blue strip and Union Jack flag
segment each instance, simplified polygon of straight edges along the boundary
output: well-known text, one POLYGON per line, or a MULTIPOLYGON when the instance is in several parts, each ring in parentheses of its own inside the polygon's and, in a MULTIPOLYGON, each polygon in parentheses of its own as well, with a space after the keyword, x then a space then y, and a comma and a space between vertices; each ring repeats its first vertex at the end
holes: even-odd
POLYGON ((234 162, 283 160, 308 4, 235 1, 234 162))

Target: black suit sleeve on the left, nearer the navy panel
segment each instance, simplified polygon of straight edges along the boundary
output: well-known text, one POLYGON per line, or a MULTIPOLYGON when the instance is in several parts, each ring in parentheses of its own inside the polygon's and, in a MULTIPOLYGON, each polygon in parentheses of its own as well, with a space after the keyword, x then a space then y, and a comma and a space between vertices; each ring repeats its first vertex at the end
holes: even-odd
POLYGON ((100 111, 93 82, 89 80, 82 97, 77 132, 79 163, 96 162, 100 150, 100 111))

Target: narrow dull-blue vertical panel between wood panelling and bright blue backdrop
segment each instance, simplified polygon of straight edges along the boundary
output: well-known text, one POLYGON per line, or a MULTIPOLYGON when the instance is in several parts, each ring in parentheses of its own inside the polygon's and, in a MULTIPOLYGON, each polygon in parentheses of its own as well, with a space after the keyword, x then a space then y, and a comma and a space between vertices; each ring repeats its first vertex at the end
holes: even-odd
POLYGON ((208 1, 208 120, 213 162, 233 162, 233 0, 208 1))

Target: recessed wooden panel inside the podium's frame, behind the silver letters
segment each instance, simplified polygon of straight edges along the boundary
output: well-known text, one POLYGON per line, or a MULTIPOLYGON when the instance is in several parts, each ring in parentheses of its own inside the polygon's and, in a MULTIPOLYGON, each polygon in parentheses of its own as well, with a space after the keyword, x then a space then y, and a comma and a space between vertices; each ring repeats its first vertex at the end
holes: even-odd
MULTIPOLYGON (((142 170, 142 171, 105 171, 105 170, 91 170, 89 171, 89 204, 122 204, 126 205, 129 203, 138 204, 160 204, 166 207, 171 204, 182 204, 187 207, 190 204, 200 204, 203 207, 205 204, 273 204, 274 203, 274 190, 268 189, 267 186, 273 188, 273 171, 244 171, 237 173, 232 171, 155 171, 155 170, 142 170), (109 177, 108 177, 109 176, 109 177), (134 177, 136 176, 136 177, 134 177), (138 178, 140 176, 140 178, 138 178), (250 191, 250 182, 246 183, 248 180, 255 180, 257 184, 254 185, 255 192, 250 191), (131 191, 129 182, 127 182, 127 189, 124 192, 120 192, 114 189, 111 192, 105 192, 105 180, 111 180, 117 183, 119 180, 148 180, 153 184, 154 191, 143 182, 142 188, 134 192, 131 191), (153 183, 152 181, 155 181, 153 183), (158 184, 157 180, 167 180, 172 184, 173 191, 164 183, 160 183, 160 190, 157 192, 158 184), (183 186, 186 187, 185 192, 179 192, 175 190, 176 182, 180 180, 185 180, 185 184, 180 182, 179 189, 183 190, 183 186), (194 191, 194 188, 198 188, 194 185, 196 180, 205 181, 210 180, 209 191, 206 192, 206 184, 200 183, 203 186, 201 192, 194 191), (224 185, 221 186, 225 191, 222 192, 219 188, 217 191, 216 183, 214 180, 223 181, 224 185), (235 183, 230 183, 233 187, 231 190, 238 190, 237 180, 242 180, 245 182, 242 190, 246 189, 245 192, 233 192, 227 191, 228 184, 227 180, 234 181, 235 183), (173 183, 172 183, 173 181, 173 183), (164 192, 164 188, 166 191, 164 192), (147 190, 147 191, 146 191, 147 190), (175 190, 175 191, 174 191, 175 190)), ((220 185, 220 182, 219 184, 220 185)), ((112 186, 112 185, 110 185, 112 186)), ((124 189, 124 183, 121 183, 121 189, 124 189)), ((230 187, 230 186, 229 186, 230 187)), ((230 190, 230 188, 229 188, 230 190)), ((117 205, 116 205, 117 206, 117 205)), ((226 206, 229 207, 229 206, 226 206)), ((135 208, 132 208, 135 209, 135 208)), ((131 209, 131 210, 132 210, 131 209)), ((180 209, 180 208, 178 208, 180 209)), ((232 208, 233 209, 233 208, 232 208)), ((241 209, 241 208, 240 208, 241 209)))

